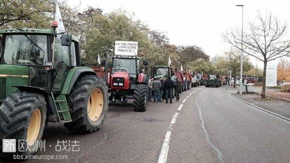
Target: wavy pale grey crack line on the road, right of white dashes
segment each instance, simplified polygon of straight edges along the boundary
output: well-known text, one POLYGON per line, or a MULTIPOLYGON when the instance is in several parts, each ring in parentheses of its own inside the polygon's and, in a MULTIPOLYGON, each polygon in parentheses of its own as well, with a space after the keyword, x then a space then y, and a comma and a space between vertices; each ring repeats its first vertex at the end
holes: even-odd
POLYGON ((203 117, 202 117, 202 114, 201 114, 201 108, 198 105, 198 101, 197 100, 196 100, 196 106, 198 107, 199 118, 200 118, 200 121, 201 121, 202 130, 203 130, 203 132, 205 134, 205 140, 207 141, 207 143, 209 144, 209 146, 211 148, 213 148, 217 152, 218 158, 219 158, 219 162, 220 163, 224 163, 222 152, 214 144, 212 144, 212 142, 209 139, 208 132, 206 131, 205 124, 204 124, 204 120, 203 120, 203 117))

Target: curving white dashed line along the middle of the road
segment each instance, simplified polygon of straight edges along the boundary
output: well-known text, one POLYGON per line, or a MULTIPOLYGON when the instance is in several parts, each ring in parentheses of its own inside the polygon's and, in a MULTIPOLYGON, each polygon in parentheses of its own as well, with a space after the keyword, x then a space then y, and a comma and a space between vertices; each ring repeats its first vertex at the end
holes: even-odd
MULTIPOLYGON (((202 89, 202 88, 200 88, 200 89, 202 89)), ((200 90, 200 89, 198 89, 198 90, 200 90)), ((196 90, 196 91, 198 91, 198 90, 196 90)), ((192 93, 195 93, 196 91, 194 91, 192 93)), ((189 96, 192 93, 190 93, 189 96)), ((184 103, 189 96, 187 96, 182 101, 182 103, 184 103)), ((166 163, 166 161, 167 161, 167 155, 168 155, 168 151, 169 151, 169 141, 170 141, 170 137, 171 137, 171 132, 173 131, 173 127, 174 127, 174 125, 176 123, 176 120, 177 120, 178 115, 179 115, 179 111, 182 109, 182 107, 183 107, 183 104, 180 104, 180 106, 178 107, 177 111, 175 112, 175 114, 173 115, 173 117, 171 119, 170 126, 167 129, 167 132, 166 132, 166 135, 165 135, 165 139, 163 141, 162 149, 160 151, 160 155, 159 155, 159 158, 158 158, 158 163, 166 163)))

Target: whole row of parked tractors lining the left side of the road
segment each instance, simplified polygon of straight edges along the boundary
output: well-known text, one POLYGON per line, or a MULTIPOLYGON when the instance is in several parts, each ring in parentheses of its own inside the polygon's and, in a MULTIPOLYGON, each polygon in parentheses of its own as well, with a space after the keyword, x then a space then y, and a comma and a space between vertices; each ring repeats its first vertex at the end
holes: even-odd
MULTIPOLYGON (((133 99, 134 111, 146 111, 149 76, 142 72, 148 62, 138 56, 113 56, 102 61, 104 69, 84 67, 78 38, 52 29, 0 30, 0 157, 31 155, 41 141, 48 122, 63 123, 72 131, 99 130, 109 104, 133 99), (58 39, 56 35, 61 35, 58 39), (142 62, 143 61, 143 62, 142 62), (141 64, 142 62, 142 64, 141 64), (3 139, 23 140, 25 150, 4 149, 3 139), (2 141, 3 140, 3 141, 2 141)), ((145 68, 147 69, 147 68, 145 68)), ((180 92, 205 84, 217 86, 212 75, 190 74, 170 66, 154 66, 151 76, 172 76, 180 92), (195 83, 194 78, 200 80, 195 83), (203 83, 204 82, 204 83, 203 83)), ((217 77, 217 76, 216 76, 217 77)))

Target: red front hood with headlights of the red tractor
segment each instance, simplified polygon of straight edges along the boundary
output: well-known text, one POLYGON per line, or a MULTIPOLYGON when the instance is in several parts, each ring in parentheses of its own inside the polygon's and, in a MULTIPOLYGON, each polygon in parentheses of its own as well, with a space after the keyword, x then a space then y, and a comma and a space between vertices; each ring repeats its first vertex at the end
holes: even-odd
POLYGON ((127 71, 114 72, 111 74, 111 89, 129 89, 130 76, 127 71))

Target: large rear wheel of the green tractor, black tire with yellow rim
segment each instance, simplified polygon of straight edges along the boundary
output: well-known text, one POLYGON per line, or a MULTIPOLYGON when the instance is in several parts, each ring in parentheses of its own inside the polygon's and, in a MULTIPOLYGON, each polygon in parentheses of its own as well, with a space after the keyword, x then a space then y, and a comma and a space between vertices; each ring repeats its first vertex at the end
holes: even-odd
POLYGON ((108 103, 108 87, 104 80, 94 75, 80 77, 68 95, 72 121, 65 123, 64 126, 72 132, 79 133, 92 133, 99 130, 104 124, 108 103), (100 114, 96 113, 98 115, 95 114, 95 119, 92 119, 88 107, 99 110, 100 114))

